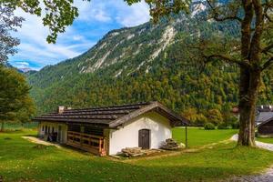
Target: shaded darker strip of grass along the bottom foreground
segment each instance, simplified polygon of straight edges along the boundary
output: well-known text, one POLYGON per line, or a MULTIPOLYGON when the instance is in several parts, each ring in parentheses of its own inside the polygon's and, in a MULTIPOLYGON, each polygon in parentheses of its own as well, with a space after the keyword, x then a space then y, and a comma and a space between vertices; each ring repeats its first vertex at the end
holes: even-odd
MULTIPOLYGON (((53 161, 49 161, 53 162, 53 161)), ((7 181, 33 179, 41 181, 213 181, 239 175, 234 167, 198 167, 181 165, 139 167, 104 159, 56 159, 54 164, 39 161, 27 168, 16 168, 12 174, 2 169, 7 181)))

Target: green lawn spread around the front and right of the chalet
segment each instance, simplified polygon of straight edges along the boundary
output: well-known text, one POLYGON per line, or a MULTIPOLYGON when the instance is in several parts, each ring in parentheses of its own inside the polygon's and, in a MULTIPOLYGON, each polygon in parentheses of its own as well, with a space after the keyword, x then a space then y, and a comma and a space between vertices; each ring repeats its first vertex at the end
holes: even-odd
MULTIPOLYGON (((175 129, 177 139, 182 129, 175 129)), ((113 160, 68 148, 37 148, 21 136, 35 131, 0 134, 0 176, 4 181, 213 181, 248 175, 273 164, 273 153, 221 143, 236 131, 188 130, 191 149, 176 156, 113 160), (206 139, 207 138, 207 139, 206 139)))

